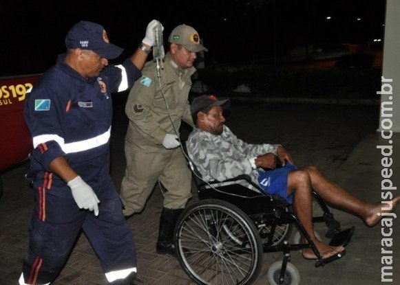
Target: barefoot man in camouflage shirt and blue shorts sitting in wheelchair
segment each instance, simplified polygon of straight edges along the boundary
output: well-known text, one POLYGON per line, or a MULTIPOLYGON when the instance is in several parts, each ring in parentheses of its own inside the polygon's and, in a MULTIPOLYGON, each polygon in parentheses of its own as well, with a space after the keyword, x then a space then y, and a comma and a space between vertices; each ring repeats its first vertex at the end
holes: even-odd
MULTIPOLYGON (((393 212, 400 196, 389 203, 366 203, 326 179, 317 168, 297 168, 291 155, 280 145, 247 144, 224 125, 223 109, 229 100, 214 95, 201 95, 191 103, 191 115, 196 125, 187 139, 187 152, 204 181, 224 181, 240 174, 249 174, 260 188, 269 194, 279 194, 293 209, 323 258, 344 251, 318 240, 313 230, 312 194, 314 190, 326 203, 344 209, 375 226, 381 212, 393 212), (383 211, 382 207, 388 210, 383 211)), ((312 249, 304 249, 303 257, 316 259, 312 249)))

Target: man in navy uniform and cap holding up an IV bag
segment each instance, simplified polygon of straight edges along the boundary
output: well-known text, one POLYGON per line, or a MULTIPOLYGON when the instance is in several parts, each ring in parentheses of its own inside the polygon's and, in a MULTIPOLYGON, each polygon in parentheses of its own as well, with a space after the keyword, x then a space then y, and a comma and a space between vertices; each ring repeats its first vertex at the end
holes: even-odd
POLYGON ((123 49, 109 43, 101 25, 77 23, 65 37, 66 54, 28 95, 24 112, 34 150, 27 178, 35 207, 19 284, 52 283, 81 229, 109 284, 136 277, 134 237, 109 174, 112 93, 141 76, 157 22, 147 25, 142 43, 121 65, 109 65, 123 49))

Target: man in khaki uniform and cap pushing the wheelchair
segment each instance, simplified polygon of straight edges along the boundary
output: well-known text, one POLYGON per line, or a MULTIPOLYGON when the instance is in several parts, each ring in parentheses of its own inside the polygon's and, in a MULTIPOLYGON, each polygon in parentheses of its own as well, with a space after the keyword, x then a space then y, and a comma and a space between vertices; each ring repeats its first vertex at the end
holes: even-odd
POLYGON ((173 229, 191 198, 191 172, 178 140, 181 122, 193 126, 189 109, 193 62, 197 53, 207 51, 198 32, 178 25, 169 35, 169 50, 158 69, 146 62, 143 76, 129 92, 125 113, 129 126, 125 137, 127 167, 120 197, 125 218, 141 212, 154 185, 162 184, 164 205, 156 250, 175 255, 173 229))

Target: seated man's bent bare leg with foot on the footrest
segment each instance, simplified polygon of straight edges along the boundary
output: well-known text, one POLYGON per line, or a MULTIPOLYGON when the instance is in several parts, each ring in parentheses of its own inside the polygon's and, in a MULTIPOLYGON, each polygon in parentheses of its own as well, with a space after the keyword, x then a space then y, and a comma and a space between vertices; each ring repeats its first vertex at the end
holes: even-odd
MULTIPOLYGON (((311 196, 310 176, 304 170, 294 170, 288 175, 288 194, 293 193, 293 209, 297 218, 302 222, 311 240, 313 240, 319 253, 323 258, 329 258, 340 251, 344 247, 331 247, 328 244, 317 239, 313 227, 313 197, 311 196)), ((303 237, 303 242, 306 242, 303 237)), ((313 249, 303 249, 303 256, 307 259, 315 259, 313 249)))

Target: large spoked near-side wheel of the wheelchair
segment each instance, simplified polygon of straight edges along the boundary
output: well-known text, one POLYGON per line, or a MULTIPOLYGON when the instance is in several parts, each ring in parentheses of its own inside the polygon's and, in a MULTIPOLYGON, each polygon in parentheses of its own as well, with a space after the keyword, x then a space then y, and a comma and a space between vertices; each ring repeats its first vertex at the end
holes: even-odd
POLYGON ((251 219, 225 201, 184 210, 175 228, 182 269, 197 284, 252 284, 262 269, 262 242, 251 219))

